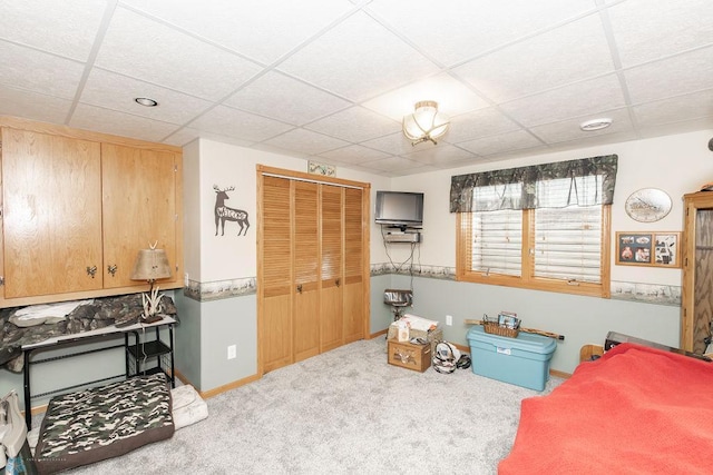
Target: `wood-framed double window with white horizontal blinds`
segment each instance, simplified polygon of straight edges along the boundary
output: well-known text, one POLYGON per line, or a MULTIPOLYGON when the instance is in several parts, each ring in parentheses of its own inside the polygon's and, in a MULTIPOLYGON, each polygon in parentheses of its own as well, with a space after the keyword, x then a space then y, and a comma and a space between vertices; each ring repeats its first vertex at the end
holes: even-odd
POLYGON ((611 157, 613 168, 589 172, 536 166, 453 177, 451 210, 468 202, 456 210, 458 280, 608 297, 611 157))

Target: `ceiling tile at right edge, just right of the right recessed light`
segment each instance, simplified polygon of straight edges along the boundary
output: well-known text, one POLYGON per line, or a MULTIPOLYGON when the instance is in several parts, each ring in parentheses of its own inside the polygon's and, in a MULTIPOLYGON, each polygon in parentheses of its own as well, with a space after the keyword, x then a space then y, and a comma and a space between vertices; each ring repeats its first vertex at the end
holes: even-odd
POLYGON ((713 89, 642 103, 633 108, 642 127, 713 116, 713 89))

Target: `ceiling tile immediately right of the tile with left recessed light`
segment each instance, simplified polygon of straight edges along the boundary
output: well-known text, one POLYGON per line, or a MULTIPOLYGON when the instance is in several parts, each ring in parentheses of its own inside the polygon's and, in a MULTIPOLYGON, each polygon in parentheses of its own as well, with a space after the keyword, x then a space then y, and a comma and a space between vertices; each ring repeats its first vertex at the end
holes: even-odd
POLYGON ((233 137, 244 141, 266 140, 292 129, 292 126, 287 123, 225 106, 211 109, 189 126, 201 131, 233 137))

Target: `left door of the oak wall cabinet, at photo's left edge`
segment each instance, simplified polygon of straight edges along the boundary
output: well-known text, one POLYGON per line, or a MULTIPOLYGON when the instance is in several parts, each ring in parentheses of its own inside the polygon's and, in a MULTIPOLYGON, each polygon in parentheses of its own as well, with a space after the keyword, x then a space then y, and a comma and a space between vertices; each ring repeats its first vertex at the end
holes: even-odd
POLYGON ((101 288, 99 154, 96 142, 2 129, 4 298, 101 288))

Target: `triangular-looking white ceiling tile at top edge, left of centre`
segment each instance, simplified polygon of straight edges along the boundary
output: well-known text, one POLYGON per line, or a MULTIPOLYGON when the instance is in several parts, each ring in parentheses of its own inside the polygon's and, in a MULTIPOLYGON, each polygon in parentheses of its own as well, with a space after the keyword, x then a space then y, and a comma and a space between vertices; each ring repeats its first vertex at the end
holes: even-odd
POLYGON ((272 63, 354 9, 345 0, 125 0, 256 61, 272 63))

